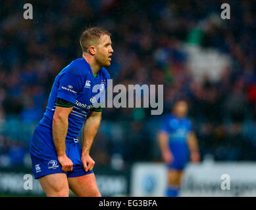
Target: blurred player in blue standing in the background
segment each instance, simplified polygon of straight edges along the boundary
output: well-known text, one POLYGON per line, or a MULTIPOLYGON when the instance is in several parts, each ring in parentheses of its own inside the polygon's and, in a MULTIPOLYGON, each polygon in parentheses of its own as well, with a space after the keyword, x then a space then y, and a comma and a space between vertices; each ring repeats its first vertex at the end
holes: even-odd
POLYGON ((168 165, 168 188, 166 196, 178 196, 182 172, 188 161, 200 159, 197 139, 191 121, 186 117, 188 104, 178 100, 172 114, 165 116, 158 133, 159 145, 165 163, 168 165))

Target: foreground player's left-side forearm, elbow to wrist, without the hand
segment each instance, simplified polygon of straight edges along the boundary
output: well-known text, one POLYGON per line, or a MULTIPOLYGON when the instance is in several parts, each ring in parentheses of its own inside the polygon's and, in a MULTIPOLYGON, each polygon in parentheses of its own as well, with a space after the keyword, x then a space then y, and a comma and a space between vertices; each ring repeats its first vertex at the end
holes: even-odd
POLYGON ((58 156, 66 155, 66 133, 68 131, 68 118, 53 117, 53 142, 58 156))

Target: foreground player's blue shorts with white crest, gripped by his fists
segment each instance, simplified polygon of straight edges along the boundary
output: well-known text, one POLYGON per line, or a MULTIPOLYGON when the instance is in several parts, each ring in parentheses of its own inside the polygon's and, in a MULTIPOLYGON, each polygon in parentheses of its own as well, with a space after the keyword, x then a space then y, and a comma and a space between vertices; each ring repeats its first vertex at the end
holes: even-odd
POLYGON ((30 157, 35 179, 53 173, 65 173, 67 177, 81 177, 93 173, 86 172, 81 161, 82 148, 78 140, 66 140, 66 156, 73 162, 73 170, 67 173, 61 170, 53 142, 52 130, 38 125, 30 142, 30 157))

